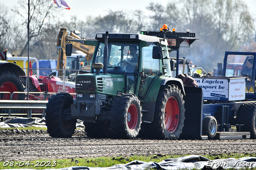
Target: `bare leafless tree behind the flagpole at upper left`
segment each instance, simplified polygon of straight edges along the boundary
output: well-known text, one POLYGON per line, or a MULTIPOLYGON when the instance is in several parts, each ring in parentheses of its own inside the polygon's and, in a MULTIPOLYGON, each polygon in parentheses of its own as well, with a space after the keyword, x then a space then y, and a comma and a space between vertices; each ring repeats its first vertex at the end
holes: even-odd
POLYGON ((20 34, 19 56, 26 54, 28 47, 28 36, 22 36, 27 35, 28 22, 30 23, 30 40, 33 40, 47 32, 49 23, 54 23, 57 13, 61 10, 52 0, 30 0, 30 20, 28 21, 28 1, 18 1, 12 11, 21 18, 21 22, 15 28, 20 34))

